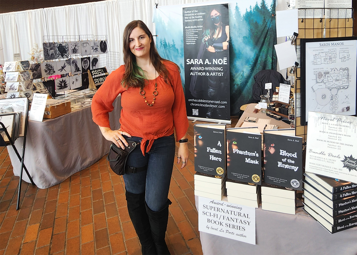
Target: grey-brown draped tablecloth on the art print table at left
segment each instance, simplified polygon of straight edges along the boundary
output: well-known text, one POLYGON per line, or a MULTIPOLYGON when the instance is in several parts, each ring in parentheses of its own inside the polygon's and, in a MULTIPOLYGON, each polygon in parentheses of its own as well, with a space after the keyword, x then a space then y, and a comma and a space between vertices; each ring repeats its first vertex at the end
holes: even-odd
MULTIPOLYGON (((119 129, 120 96, 113 105, 110 126, 119 129)), ((23 141, 23 137, 15 141, 20 155, 23 141)), ((86 107, 43 122, 29 121, 24 163, 36 186, 45 189, 97 162, 109 152, 110 144, 93 122, 91 107, 86 107)), ((7 150, 14 174, 20 176, 21 162, 11 146, 7 150)), ((26 174, 22 179, 30 183, 26 174)))

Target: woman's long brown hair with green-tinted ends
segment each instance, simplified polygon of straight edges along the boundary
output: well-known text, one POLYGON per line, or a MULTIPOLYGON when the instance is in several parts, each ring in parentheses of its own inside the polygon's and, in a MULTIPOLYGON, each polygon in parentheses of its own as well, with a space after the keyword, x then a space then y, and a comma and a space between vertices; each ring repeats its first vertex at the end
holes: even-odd
MULTIPOLYGON (((131 52, 129 47, 129 37, 131 32, 139 27, 144 30, 145 34, 151 39, 150 43, 150 60, 152 65, 155 67, 155 70, 159 73, 161 77, 164 78, 165 82, 170 82, 169 71, 162 63, 165 59, 160 57, 159 53, 156 50, 154 39, 149 28, 141 20, 133 20, 126 25, 123 34, 123 53, 124 53, 124 64, 125 64, 125 73, 122 78, 121 84, 125 88, 128 87, 140 87, 143 89, 145 87, 146 78, 143 76, 143 70, 136 64, 136 57, 131 52)), ((177 66, 177 65, 176 65, 177 66)))

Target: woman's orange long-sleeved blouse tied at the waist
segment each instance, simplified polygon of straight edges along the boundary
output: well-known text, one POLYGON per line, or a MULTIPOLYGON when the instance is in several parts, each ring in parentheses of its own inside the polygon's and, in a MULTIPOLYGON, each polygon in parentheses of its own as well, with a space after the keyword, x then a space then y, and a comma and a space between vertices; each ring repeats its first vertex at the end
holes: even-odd
MULTIPOLYGON (((93 121, 101 127, 109 127, 109 112, 113 111, 113 102, 121 94, 120 130, 132 136, 142 137, 141 151, 145 154, 145 143, 149 140, 146 152, 150 151, 154 140, 169 136, 176 131, 177 141, 185 136, 188 128, 185 95, 177 66, 164 61, 169 71, 171 85, 164 78, 157 77, 157 92, 155 104, 147 106, 140 95, 140 88, 124 88, 121 80, 124 75, 124 65, 113 71, 103 85, 95 93, 92 100, 93 121)), ((155 90, 155 79, 149 80, 145 86, 146 100, 151 103, 152 92, 155 90)))

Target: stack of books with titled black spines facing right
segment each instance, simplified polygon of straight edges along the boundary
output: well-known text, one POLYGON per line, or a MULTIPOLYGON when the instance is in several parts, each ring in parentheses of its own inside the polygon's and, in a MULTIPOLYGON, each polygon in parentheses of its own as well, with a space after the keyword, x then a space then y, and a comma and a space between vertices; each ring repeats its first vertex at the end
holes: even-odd
POLYGON ((306 172, 304 204, 332 234, 357 226, 357 184, 306 172))

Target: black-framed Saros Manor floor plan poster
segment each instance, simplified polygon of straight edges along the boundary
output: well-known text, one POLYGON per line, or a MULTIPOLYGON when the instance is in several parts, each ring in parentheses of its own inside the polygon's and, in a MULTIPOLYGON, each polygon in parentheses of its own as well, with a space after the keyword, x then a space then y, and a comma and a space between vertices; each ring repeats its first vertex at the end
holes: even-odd
POLYGON ((301 39, 301 124, 308 111, 355 115, 356 70, 357 36, 301 39))

